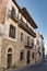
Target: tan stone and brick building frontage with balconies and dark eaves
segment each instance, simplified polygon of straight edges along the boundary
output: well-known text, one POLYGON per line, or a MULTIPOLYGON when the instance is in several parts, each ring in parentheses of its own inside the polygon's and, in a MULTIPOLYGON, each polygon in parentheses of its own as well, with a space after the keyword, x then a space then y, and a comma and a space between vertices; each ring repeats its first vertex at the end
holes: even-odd
POLYGON ((0 68, 34 64, 43 59, 43 40, 35 28, 26 8, 21 9, 15 0, 0 0, 0 68))

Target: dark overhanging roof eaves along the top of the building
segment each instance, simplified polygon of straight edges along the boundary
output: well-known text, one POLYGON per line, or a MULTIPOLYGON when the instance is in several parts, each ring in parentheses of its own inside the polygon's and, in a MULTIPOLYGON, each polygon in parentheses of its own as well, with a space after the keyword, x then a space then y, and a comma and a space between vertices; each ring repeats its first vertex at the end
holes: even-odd
POLYGON ((19 4, 16 3, 15 0, 12 0, 15 5, 19 8, 19 11, 22 13, 22 15, 30 22, 30 24, 33 26, 33 28, 37 28, 38 26, 36 25, 36 23, 34 22, 33 17, 30 15, 28 11, 26 10, 26 8, 21 9, 19 7, 19 4))

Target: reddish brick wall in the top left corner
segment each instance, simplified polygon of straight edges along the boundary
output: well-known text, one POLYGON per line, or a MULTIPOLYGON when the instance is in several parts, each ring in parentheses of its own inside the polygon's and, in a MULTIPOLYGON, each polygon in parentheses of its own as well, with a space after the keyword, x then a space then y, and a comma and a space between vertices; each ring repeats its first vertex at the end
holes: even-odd
POLYGON ((4 23, 8 0, 0 0, 0 23, 4 23))

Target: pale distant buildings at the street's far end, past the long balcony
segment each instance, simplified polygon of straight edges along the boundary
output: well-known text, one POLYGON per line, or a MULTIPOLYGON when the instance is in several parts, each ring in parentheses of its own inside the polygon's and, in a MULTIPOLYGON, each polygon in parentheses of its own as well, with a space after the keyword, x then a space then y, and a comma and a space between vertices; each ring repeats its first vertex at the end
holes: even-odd
POLYGON ((35 54, 36 54, 36 62, 45 60, 45 46, 44 46, 44 37, 38 32, 36 32, 35 38, 35 54))

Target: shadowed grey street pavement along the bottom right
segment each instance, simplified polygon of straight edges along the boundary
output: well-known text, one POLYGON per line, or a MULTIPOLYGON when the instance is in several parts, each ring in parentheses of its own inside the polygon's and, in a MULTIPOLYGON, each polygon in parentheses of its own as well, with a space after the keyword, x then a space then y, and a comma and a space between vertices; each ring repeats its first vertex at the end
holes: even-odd
POLYGON ((9 70, 9 71, 47 71, 47 61, 40 62, 39 64, 26 66, 23 68, 9 70))

